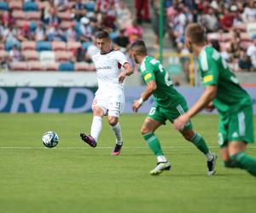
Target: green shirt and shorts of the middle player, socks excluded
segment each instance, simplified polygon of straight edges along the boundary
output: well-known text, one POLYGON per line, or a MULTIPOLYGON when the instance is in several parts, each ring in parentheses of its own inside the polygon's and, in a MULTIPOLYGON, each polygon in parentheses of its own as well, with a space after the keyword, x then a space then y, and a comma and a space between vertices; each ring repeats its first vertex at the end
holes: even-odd
MULTIPOLYGON (((152 56, 146 56, 139 68, 144 83, 154 80, 157 89, 154 90, 154 106, 148 112, 148 117, 165 124, 166 120, 173 120, 188 111, 187 102, 183 95, 173 88, 172 79, 159 60, 152 56)), ((191 130, 189 121, 184 130, 191 130)))

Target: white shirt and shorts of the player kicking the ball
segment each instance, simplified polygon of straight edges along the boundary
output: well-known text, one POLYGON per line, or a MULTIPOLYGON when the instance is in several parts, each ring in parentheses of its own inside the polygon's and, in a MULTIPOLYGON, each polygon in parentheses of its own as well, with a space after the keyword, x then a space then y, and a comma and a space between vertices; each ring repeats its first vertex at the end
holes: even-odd
POLYGON ((112 50, 108 54, 92 56, 96 66, 98 89, 92 107, 102 107, 105 115, 119 117, 125 107, 123 83, 119 83, 121 67, 128 60, 120 51, 112 50))

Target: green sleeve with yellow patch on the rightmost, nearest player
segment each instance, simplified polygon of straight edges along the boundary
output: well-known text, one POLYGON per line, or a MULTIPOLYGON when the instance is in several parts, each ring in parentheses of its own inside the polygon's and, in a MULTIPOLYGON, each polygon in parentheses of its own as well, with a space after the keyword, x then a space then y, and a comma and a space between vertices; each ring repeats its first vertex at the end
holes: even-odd
POLYGON ((200 57, 202 83, 205 86, 218 84, 218 60, 220 59, 220 55, 214 50, 212 53, 204 51, 200 57))

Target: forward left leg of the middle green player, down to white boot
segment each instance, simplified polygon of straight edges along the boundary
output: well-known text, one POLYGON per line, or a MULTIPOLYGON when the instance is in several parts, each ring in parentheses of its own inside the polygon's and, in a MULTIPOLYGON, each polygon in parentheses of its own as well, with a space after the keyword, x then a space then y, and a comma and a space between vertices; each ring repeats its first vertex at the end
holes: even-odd
POLYGON ((144 140, 147 142, 148 147, 154 153, 157 158, 157 165, 154 170, 150 171, 151 175, 159 175, 164 170, 170 170, 171 164, 165 157, 162 148, 160 146, 160 141, 154 131, 160 127, 161 124, 165 124, 166 118, 162 117, 159 112, 158 107, 152 107, 148 113, 148 117, 145 118, 141 133, 144 140))

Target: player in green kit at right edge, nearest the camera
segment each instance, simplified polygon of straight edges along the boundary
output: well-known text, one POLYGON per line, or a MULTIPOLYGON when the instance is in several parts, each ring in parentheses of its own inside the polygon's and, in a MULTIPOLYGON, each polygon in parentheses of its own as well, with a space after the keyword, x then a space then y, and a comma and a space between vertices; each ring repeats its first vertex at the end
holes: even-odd
POLYGON ((205 91, 188 112, 174 121, 183 130, 190 118, 203 108, 218 109, 218 145, 224 166, 241 168, 256 176, 256 158, 245 151, 253 143, 253 101, 241 88, 236 76, 216 49, 206 45, 205 30, 200 24, 189 24, 186 44, 198 56, 199 69, 205 91))

